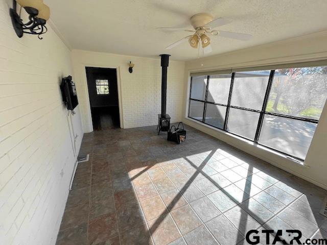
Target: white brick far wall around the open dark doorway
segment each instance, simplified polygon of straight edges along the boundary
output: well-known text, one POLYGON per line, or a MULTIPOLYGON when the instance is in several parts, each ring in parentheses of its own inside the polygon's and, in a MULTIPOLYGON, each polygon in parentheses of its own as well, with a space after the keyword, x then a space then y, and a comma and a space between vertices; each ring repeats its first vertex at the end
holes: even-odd
MULTIPOLYGON (((151 59, 73 50, 72 59, 84 132, 93 131, 85 66, 117 68, 122 128, 157 124, 157 114, 161 110, 160 57, 151 59), (135 64, 132 74, 128 71, 130 61, 135 64)), ((168 67, 167 113, 175 122, 183 115, 185 63, 172 59, 168 67)))

